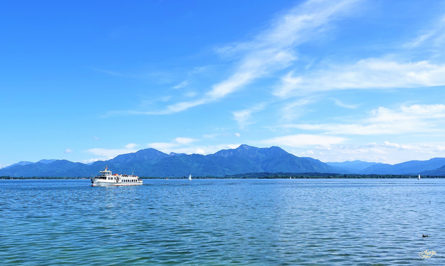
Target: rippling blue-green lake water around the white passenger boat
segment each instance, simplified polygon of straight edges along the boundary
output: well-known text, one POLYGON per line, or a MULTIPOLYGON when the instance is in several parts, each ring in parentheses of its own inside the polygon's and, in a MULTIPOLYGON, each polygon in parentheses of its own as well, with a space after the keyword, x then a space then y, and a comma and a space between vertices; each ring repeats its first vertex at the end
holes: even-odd
POLYGON ((0 265, 445 265, 445 179, 144 183, 0 180, 0 265))

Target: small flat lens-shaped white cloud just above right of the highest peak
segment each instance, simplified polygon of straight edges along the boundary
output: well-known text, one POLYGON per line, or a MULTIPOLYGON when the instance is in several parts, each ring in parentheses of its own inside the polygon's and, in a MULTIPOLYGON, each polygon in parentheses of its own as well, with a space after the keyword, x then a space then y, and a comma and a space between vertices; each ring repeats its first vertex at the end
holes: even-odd
POLYGON ((263 140, 262 143, 271 145, 285 145, 290 147, 304 147, 307 145, 324 145, 337 144, 344 142, 342 137, 332 137, 323 135, 288 135, 283 137, 273 137, 271 139, 263 140))

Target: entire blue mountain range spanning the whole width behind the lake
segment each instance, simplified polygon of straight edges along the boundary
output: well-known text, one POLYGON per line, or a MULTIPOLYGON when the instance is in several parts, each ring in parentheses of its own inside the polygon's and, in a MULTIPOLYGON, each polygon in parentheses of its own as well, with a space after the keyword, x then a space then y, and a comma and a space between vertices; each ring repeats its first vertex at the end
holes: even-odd
POLYGON ((91 164, 67 160, 21 161, 0 169, 0 176, 88 177, 105 165, 113 173, 134 173, 150 177, 226 176, 240 173, 360 173, 360 174, 429 174, 445 175, 445 158, 428 161, 407 161, 389 165, 365 161, 327 162, 311 157, 297 157, 280 147, 257 148, 240 145, 236 149, 222 149, 216 153, 162 153, 157 149, 142 149, 121 154, 108 161, 91 164))

